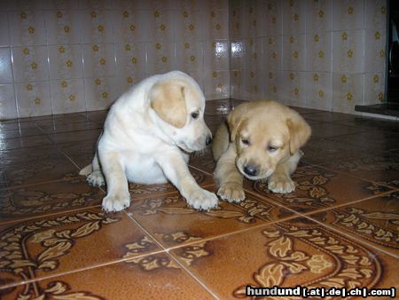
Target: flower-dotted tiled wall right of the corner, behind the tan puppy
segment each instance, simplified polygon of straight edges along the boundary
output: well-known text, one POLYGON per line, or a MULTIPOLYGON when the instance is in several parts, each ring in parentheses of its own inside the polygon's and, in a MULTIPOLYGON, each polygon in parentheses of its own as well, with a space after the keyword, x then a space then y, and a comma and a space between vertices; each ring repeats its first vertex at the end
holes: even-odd
POLYGON ((353 113, 384 99, 385 0, 230 2, 231 97, 353 113))

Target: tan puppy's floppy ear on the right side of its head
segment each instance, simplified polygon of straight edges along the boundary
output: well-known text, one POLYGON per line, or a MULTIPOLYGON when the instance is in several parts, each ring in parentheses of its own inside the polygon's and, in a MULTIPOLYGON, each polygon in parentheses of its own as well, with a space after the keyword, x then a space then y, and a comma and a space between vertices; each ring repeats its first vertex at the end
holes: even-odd
POLYGON ((286 125, 290 132, 290 154, 295 154, 308 141, 311 129, 309 124, 295 111, 292 111, 286 125))

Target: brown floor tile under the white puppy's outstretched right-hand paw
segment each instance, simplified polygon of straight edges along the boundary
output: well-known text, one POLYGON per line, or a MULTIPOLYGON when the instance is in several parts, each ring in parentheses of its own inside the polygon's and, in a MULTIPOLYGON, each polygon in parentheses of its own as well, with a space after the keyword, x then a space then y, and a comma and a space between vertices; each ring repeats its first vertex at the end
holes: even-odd
MULTIPOLYGON (((215 186, 207 189, 214 192, 215 186)), ((179 193, 172 193, 133 201, 127 211, 165 248, 294 217, 292 211, 250 193, 240 203, 219 201, 219 207, 198 211, 187 207, 179 193)))

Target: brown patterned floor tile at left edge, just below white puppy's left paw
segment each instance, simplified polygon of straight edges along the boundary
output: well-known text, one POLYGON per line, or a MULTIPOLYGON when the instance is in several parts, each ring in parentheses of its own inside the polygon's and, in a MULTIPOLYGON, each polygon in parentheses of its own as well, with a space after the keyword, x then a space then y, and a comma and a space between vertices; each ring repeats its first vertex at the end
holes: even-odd
POLYGON ((124 212, 100 209, 0 225, 0 234, 3 288, 161 250, 124 212), (149 245, 133 251, 133 241, 149 245))

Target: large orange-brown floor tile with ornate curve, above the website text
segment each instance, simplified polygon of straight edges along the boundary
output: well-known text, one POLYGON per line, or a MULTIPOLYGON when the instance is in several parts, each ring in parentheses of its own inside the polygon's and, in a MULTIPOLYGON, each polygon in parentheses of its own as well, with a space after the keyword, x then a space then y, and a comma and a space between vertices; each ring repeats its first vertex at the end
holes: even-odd
POLYGON ((394 257, 305 218, 193 244, 196 261, 187 260, 183 250, 171 254, 222 299, 245 296, 246 285, 390 288, 398 283, 394 257))

